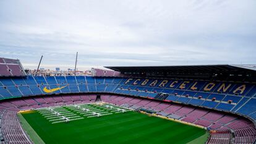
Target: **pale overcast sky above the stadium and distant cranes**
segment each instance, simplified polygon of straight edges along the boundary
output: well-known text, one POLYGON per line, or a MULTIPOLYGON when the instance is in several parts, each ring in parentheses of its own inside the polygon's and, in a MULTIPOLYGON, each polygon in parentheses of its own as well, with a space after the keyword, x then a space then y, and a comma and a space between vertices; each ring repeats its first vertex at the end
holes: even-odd
POLYGON ((0 57, 25 68, 256 64, 255 0, 1 0, 0 57))

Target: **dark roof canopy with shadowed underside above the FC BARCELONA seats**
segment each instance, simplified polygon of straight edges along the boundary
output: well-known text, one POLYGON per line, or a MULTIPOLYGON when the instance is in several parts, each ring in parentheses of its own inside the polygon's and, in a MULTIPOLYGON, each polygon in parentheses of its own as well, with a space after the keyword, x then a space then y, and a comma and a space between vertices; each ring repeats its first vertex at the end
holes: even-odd
POLYGON ((256 82, 256 65, 134 66, 106 67, 134 77, 196 78, 256 82))

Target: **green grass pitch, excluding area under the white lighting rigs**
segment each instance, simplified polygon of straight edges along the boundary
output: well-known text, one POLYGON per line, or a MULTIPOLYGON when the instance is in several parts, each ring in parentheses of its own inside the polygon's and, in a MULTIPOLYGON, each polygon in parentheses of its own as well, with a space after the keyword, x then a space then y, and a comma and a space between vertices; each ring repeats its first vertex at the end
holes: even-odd
POLYGON ((20 115, 23 128, 36 144, 40 143, 40 140, 35 137, 35 133, 46 144, 200 144, 205 143, 208 137, 208 133, 204 129, 135 111, 113 112, 106 116, 88 118, 75 109, 62 108, 84 117, 84 119, 52 124, 38 111, 23 112, 22 116, 20 115))

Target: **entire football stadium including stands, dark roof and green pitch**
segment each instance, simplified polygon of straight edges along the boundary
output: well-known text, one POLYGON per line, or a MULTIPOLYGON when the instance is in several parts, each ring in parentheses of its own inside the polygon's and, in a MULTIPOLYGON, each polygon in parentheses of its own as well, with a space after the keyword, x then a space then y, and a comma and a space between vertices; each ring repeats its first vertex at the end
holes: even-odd
POLYGON ((1 143, 255 143, 254 66, 0 67, 1 143))

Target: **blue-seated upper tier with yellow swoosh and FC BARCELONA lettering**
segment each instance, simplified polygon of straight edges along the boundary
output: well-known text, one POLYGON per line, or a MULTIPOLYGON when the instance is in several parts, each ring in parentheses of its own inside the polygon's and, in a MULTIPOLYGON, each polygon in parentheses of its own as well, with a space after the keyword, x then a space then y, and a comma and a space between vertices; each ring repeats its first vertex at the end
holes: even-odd
POLYGON ((19 96, 86 92, 145 96, 231 111, 256 119, 256 85, 252 83, 85 76, 0 79, 0 100, 19 96))

